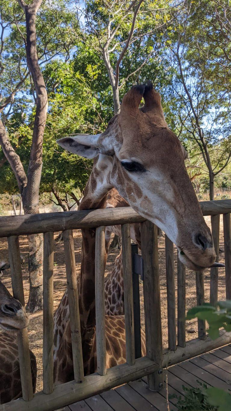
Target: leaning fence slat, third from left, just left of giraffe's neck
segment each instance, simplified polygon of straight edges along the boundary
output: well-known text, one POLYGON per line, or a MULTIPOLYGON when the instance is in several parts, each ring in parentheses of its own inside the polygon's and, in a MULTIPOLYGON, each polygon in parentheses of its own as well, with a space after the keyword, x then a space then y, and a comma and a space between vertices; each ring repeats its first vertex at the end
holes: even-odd
POLYGON ((66 265, 68 302, 69 302, 69 311, 70 311, 71 343, 72 343, 72 353, 73 353, 74 377, 75 377, 76 382, 82 382, 84 379, 83 361, 82 361, 82 342, 81 342, 81 329, 80 329, 80 314, 79 314, 79 305, 78 305, 78 290, 77 290, 77 280, 76 280, 76 272, 75 272, 75 250, 74 250, 72 230, 64 230, 63 239, 64 239, 64 254, 65 254, 65 265, 66 265))

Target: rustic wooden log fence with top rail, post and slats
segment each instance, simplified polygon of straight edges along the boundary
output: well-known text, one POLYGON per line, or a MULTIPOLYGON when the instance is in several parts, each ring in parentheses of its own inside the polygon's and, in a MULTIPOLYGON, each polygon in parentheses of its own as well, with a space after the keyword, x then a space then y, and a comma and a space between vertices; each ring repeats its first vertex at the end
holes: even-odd
MULTIPOLYGON (((224 254, 226 298, 231 298, 231 200, 203 201, 204 215, 211 215, 215 249, 219 252, 220 214, 224 224, 224 254)), ((177 326, 174 282, 174 247, 165 236, 167 311, 169 349, 162 349, 160 283, 158 268, 157 227, 146 221, 130 207, 104 210, 55 212, 39 215, 2 217, 0 237, 8 237, 14 297, 25 305, 18 236, 44 233, 43 255, 43 391, 33 395, 27 330, 18 332, 23 399, 0 405, 4 411, 48 411, 96 395, 144 375, 149 387, 160 390, 163 386, 162 368, 231 342, 231 333, 221 330, 220 337, 211 341, 206 337, 204 321, 198 321, 198 338, 185 342, 185 267, 178 260, 177 326), (140 325, 137 326, 140 305, 137 300, 137 280, 130 247, 130 224, 141 223, 143 258, 144 316, 146 329, 146 357, 137 358, 140 352, 140 325), (104 227, 121 224, 124 310, 126 331, 126 363, 106 369, 105 312, 104 312, 104 227), (83 374, 78 290, 75 273, 73 229, 96 228, 96 345, 97 373, 83 374), (53 259, 55 231, 64 233, 64 254, 70 308, 74 381, 53 386, 53 259), (134 289, 134 293, 133 293, 134 289), (135 308, 134 308, 135 302, 135 308), (134 314, 136 317, 134 329, 134 314), (138 317, 137 317, 138 316, 138 317), (138 336, 138 337, 137 337, 138 336), (170 351, 169 351, 170 350, 170 351), (137 354, 138 353, 138 354, 137 354)), ((204 302, 204 280, 195 274, 197 303, 204 302)), ((218 269, 210 272, 210 301, 217 300, 218 269)), ((225 296, 224 296, 225 298, 225 296)))

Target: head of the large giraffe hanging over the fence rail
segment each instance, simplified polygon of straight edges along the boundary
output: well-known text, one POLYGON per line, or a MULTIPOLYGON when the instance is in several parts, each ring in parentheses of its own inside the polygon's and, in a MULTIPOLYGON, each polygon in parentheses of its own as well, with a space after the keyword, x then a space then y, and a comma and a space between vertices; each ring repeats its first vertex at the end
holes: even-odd
POLYGON ((92 195, 103 196, 115 187, 134 210, 165 231, 186 266, 199 270, 213 265, 213 239, 185 168, 187 153, 168 128, 151 83, 131 88, 105 132, 57 143, 82 157, 96 157, 92 195))

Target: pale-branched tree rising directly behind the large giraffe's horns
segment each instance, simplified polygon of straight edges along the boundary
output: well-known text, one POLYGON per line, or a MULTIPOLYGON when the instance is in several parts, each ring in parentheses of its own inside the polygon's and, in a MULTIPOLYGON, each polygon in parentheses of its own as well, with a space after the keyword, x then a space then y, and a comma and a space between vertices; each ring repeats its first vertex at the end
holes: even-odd
POLYGON ((159 9, 158 2, 144 0, 102 0, 100 4, 88 0, 85 7, 79 7, 85 17, 84 41, 91 39, 107 70, 114 114, 120 111, 121 90, 124 93, 130 84, 136 83, 142 71, 145 78, 146 64, 152 62, 157 66, 153 61, 156 57, 157 62, 157 56, 152 35, 158 25, 153 16, 159 9))

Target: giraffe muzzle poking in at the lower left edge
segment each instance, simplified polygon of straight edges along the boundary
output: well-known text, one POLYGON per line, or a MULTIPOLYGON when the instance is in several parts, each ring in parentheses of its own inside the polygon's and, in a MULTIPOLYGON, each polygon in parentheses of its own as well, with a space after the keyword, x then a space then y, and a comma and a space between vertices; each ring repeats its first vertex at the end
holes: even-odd
POLYGON ((22 330, 29 324, 29 319, 21 302, 11 296, 0 281, 0 328, 14 332, 22 330))

